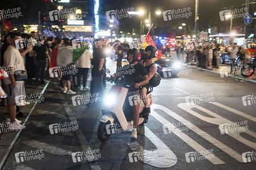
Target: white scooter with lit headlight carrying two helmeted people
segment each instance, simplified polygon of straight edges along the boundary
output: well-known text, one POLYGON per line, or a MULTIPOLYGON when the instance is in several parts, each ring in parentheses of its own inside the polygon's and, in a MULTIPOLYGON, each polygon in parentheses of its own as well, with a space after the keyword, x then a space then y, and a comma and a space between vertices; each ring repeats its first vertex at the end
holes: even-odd
MULTIPOLYGON (((110 71, 107 69, 109 74, 110 71)), ((115 131, 127 131, 132 128, 132 109, 131 105, 140 104, 139 113, 144 109, 144 103, 142 100, 136 103, 138 98, 136 96, 127 97, 128 89, 134 88, 134 83, 125 82, 125 79, 121 76, 117 76, 115 79, 110 78, 108 82, 115 83, 108 92, 104 99, 102 114, 100 118, 98 128, 98 139, 102 142, 107 141, 112 133, 115 131), (128 99, 129 98, 129 99, 128 99)), ((140 87, 141 88, 141 87, 140 87)), ((151 90, 150 92, 152 92, 151 90)), ((148 107, 152 105, 152 95, 148 93, 148 107)), ((147 118, 143 118, 140 114, 139 124, 145 124, 148 121, 147 118)))

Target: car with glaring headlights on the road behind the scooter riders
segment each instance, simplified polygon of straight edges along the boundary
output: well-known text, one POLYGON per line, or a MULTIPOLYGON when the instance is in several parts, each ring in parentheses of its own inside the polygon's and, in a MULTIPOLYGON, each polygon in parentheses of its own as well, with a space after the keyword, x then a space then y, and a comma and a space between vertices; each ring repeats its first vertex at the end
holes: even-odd
POLYGON ((163 77, 177 76, 181 63, 171 60, 169 57, 162 57, 155 61, 157 65, 157 73, 163 77))

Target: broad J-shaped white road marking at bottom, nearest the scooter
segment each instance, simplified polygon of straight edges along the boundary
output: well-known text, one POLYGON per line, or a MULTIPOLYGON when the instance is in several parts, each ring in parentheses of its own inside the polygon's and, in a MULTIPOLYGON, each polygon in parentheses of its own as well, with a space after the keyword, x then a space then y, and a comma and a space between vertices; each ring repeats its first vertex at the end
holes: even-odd
MULTIPOLYGON (((153 151, 152 153, 156 156, 152 156, 152 159, 144 160, 144 163, 161 168, 167 168, 175 165, 177 163, 177 156, 174 154, 174 152, 168 146, 166 146, 165 143, 163 143, 161 139, 159 139, 149 128, 146 126, 144 126, 144 128, 145 136, 157 147, 157 150, 153 151)), ((146 145, 147 144, 145 143, 145 146, 146 145)), ((129 143, 129 147, 134 152, 140 151, 147 153, 148 151, 144 150, 144 147, 142 147, 137 141, 129 143)))

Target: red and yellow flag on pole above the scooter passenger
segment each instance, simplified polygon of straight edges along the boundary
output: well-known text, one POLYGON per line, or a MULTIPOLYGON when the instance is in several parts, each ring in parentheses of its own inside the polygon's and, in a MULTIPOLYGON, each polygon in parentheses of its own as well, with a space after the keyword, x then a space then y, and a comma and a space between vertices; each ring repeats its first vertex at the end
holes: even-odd
POLYGON ((146 46, 149 46, 149 45, 156 46, 158 50, 158 55, 157 55, 157 58, 154 58, 154 61, 157 61, 158 59, 163 57, 163 54, 162 54, 163 45, 160 42, 160 40, 153 35, 152 27, 153 27, 153 24, 151 25, 149 32, 146 34, 146 37, 142 42, 142 48, 145 49, 146 46))

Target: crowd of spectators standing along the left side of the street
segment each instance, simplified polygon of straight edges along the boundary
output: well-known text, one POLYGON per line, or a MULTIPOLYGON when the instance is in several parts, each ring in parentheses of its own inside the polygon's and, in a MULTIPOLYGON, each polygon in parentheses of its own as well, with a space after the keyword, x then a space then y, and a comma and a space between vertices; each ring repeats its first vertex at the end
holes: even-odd
MULTIPOLYGON (((5 96, 0 96, 3 98, 3 105, 7 105, 9 112, 9 118, 6 119, 9 129, 17 130, 25 128, 16 117, 27 117, 27 114, 20 112, 19 107, 30 103, 25 100, 17 103, 15 97, 20 95, 26 96, 26 80, 40 85, 48 82, 45 79, 55 78, 60 81, 60 90, 64 94, 73 95, 78 90, 89 90, 86 83, 89 70, 91 70, 93 77, 90 86, 91 97, 98 97, 92 95, 97 92, 100 92, 100 95, 103 94, 102 82, 104 81, 102 77, 106 68, 106 54, 102 50, 104 45, 103 39, 94 41, 93 55, 89 50, 88 44, 85 46, 85 50, 83 50, 77 62, 59 66, 57 68, 57 74, 51 74, 51 71, 49 71, 51 70, 50 56, 56 52, 54 49, 66 48, 73 50, 72 40, 68 38, 58 39, 39 36, 36 32, 31 32, 30 35, 27 33, 9 32, 5 36, 0 35, 0 37, 3 37, 3 39, 0 39, 0 88, 5 92, 5 96), (21 75, 20 71, 23 71, 22 73, 24 75, 21 75), (23 79, 18 79, 20 76, 23 79)), ((73 56, 69 57, 72 58, 73 56)), ((94 103, 90 102, 88 105, 92 104, 94 103)))

